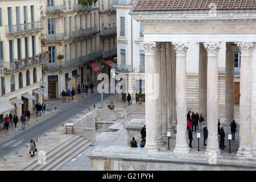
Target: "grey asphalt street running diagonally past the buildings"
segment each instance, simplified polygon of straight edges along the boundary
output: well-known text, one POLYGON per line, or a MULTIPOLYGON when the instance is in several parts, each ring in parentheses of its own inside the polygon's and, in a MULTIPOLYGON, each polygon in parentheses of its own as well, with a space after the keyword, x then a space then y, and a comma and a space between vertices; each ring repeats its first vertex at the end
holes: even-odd
MULTIPOLYGON (((104 100, 110 95, 111 94, 104 94, 104 100)), ((34 125, 27 126, 26 123, 26 130, 21 130, 0 141, 0 161, 3 160, 3 156, 15 154, 15 150, 25 147, 26 143, 30 143, 31 138, 43 137, 44 133, 53 131, 53 127, 58 127, 61 123, 68 122, 69 118, 75 118, 76 114, 82 113, 82 111, 87 110, 88 107, 92 108, 94 104, 97 105, 100 103, 101 94, 95 91, 92 95, 86 96, 77 102, 59 101, 48 106, 47 108, 54 108, 57 105, 59 111, 49 117, 40 119, 40 121, 34 125)))

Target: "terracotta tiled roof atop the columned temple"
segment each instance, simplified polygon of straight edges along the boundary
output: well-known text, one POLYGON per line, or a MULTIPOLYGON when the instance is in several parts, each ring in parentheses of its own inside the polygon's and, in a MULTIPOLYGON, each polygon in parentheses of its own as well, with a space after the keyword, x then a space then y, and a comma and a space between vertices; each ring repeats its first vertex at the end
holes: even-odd
POLYGON ((209 10, 212 2, 217 10, 256 9, 256 0, 137 0, 133 11, 209 10))

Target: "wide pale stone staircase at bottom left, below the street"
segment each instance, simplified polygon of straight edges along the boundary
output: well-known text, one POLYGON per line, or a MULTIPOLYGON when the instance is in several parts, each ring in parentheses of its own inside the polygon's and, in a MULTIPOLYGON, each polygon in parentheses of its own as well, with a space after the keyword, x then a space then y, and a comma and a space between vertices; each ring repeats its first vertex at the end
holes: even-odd
POLYGON ((84 137, 72 135, 46 154, 46 164, 38 164, 38 160, 35 160, 32 164, 24 167, 22 171, 56 171, 92 143, 84 137))

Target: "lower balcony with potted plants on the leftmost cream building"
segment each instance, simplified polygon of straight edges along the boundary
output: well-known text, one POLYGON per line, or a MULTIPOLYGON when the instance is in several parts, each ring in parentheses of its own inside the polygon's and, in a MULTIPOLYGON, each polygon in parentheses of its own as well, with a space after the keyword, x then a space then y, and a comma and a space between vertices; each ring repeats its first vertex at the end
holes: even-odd
POLYGON ((38 55, 36 57, 31 57, 31 59, 22 59, 20 61, 3 62, 3 67, 5 72, 15 72, 24 68, 32 67, 38 64, 46 63, 49 61, 49 56, 47 53, 43 55, 38 55))

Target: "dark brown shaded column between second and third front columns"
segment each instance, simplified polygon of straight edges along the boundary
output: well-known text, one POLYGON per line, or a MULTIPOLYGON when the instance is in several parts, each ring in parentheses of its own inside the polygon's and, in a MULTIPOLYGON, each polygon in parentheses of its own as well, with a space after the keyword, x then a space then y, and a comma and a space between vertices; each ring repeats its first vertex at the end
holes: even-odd
POLYGON ((199 43, 199 113, 207 120, 207 52, 199 43))

